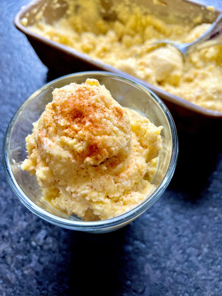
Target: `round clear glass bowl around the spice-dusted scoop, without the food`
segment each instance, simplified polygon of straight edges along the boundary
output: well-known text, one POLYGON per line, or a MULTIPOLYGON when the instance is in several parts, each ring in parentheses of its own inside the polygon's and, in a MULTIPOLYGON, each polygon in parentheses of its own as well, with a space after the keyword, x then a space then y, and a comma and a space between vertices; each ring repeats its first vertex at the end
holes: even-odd
POLYGON ((17 110, 7 128, 3 143, 4 171, 12 190, 20 201, 42 219, 67 229, 103 233, 121 228, 149 207, 151 207, 167 188, 175 171, 178 158, 178 138, 176 127, 165 104, 145 86, 114 73, 96 71, 66 75, 47 83, 32 94, 17 110), (41 198, 41 191, 36 176, 30 176, 20 168, 26 158, 25 137, 32 132, 32 123, 45 110, 45 105, 52 101, 52 90, 71 82, 82 83, 87 78, 95 78, 111 92, 120 105, 139 110, 156 126, 163 126, 161 131, 162 150, 152 184, 155 190, 147 199, 123 215, 103 221, 82 221, 75 215, 68 216, 57 211, 41 198))

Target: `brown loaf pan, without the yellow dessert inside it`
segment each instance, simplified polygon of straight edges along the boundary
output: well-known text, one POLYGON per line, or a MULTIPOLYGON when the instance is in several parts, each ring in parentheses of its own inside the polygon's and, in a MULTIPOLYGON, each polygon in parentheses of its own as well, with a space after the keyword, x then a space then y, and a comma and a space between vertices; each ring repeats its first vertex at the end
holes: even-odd
MULTIPOLYGON (((112 4, 113 1, 120 0, 110 0, 108 2, 112 4)), ((93 60, 74 49, 70 49, 62 44, 43 38, 26 27, 26 25, 32 25, 35 22, 36 16, 41 13, 42 7, 44 7, 43 16, 46 19, 46 22, 52 23, 54 20, 61 18, 67 9, 67 1, 58 0, 57 2, 60 4, 59 8, 55 5, 55 2, 55 0, 32 1, 30 4, 20 9, 14 20, 17 29, 26 35, 28 41, 46 67, 57 73, 61 73, 61 75, 85 70, 102 70, 124 74, 125 76, 132 78, 131 75, 123 73, 97 60, 93 60), (23 25, 24 18, 28 21, 25 25, 23 25)), ((101 5, 107 5, 108 2, 101 0, 101 5)), ((208 7, 187 0, 134 0, 133 2, 136 2, 138 5, 144 5, 157 16, 166 18, 168 15, 173 15, 175 19, 178 18, 184 23, 191 22, 195 17, 200 16, 200 14, 202 16, 202 22, 212 23, 222 12, 216 9, 209 9, 208 7)), ((106 9, 106 7, 104 7, 104 9, 106 9)), ((222 112, 206 110, 178 96, 174 96, 166 91, 158 89, 149 83, 145 83, 134 77, 133 79, 143 83, 149 87, 149 89, 154 91, 165 102, 173 114, 178 115, 182 112, 183 115, 188 118, 191 114, 207 118, 222 118, 222 112)))

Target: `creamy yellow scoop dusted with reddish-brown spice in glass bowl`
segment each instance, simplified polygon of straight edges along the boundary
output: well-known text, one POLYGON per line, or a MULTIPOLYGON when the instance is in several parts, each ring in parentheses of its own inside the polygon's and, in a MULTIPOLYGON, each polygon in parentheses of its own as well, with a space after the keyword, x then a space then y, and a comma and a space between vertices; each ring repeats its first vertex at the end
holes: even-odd
POLYGON ((22 163, 44 199, 83 220, 112 218, 144 201, 154 189, 162 126, 120 106, 95 79, 52 94, 26 137, 22 163))

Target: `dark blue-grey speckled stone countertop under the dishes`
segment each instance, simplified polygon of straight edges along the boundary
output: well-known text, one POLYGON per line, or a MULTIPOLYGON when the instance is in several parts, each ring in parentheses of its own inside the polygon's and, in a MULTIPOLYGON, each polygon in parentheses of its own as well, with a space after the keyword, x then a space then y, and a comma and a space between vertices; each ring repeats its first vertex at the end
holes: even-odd
MULTIPOLYGON (((0 3, 1 143, 17 108, 52 79, 13 24, 27 3, 0 3)), ((222 6, 221 0, 202 3, 222 6)), ((41 220, 12 192, 1 165, 0 295, 222 295, 218 134, 221 122, 203 124, 197 133, 178 130, 178 165, 163 196, 130 225, 107 234, 41 220)))

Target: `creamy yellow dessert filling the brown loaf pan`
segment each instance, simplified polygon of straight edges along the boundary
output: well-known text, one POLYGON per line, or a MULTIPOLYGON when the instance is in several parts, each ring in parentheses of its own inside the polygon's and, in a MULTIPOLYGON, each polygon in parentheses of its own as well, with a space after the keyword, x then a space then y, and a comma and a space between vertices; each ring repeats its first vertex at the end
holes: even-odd
POLYGON ((106 10, 99 3, 67 0, 64 17, 49 24, 38 13, 29 29, 200 107, 222 111, 222 46, 194 51, 184 61, 174 47, 153 43, 191 42, 210 24, 200 24, 201 17, 192 24, 170 23, 127 0, 106 10))

